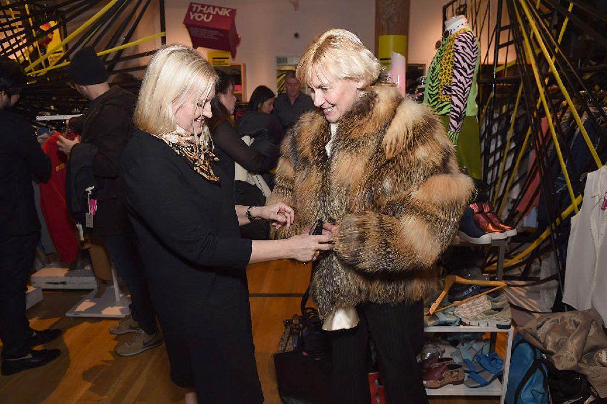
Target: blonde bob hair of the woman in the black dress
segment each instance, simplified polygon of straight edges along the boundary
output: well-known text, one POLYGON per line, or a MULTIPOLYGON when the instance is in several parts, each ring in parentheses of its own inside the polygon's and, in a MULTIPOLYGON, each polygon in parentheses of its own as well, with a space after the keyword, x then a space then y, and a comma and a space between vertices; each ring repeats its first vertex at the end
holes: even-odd
MULTIPOLYGON (((152 57, 141 82, 133 120, 142 131, 154 135, 172 132, 177 128, 173 105, 192 103, 196 110, 198 100, 215 87, 217 74, 208 61, 191 46, 166 44, 152 57)), ((209 143, 209 129, 202 125, 202 138, 209 143)))

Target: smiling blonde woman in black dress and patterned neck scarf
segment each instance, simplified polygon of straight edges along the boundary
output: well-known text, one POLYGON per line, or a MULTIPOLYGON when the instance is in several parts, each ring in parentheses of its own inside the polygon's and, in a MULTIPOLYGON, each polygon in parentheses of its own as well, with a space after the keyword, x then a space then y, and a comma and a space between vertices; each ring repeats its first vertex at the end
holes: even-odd
POLYGON ((122 156, 129 216, 158 310, 173 382, 185 403, 263 402, 254 355, 246 265, 280 258, 310 261, 331 247, 325 236, 283 241, 240 238, 251 220, 290 227, 285 204, 234 205, 217 163, 211 118, 214 69, 180 44, 155 53, 141 83, 135 131, 122 156))

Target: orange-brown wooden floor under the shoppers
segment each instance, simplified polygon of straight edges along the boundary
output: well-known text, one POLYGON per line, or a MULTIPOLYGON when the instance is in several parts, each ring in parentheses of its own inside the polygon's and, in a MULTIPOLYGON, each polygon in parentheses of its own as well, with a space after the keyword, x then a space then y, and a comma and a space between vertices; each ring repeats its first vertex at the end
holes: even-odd
MULTIPOLYGON (((302 293, 310 267, 291 261, 251 265, 248 278, 251 293, 302 293)), ((118 357, 114 347, 130 335, 109 334, 108 327, 117 320, 64 317, 84 295, 81 291, 44 292, 44 300, 28 310, 32 327, 63 330, 58 340, 45 347, 59 348, 63 354, 42 368, 0 376, 0 404, 182 403, 184 392, 171 382, 164 345, 134 357, 118 357)), ((272 354, 282 333, 282 320, 299 310, 299 302, 298 297, 251 297, 257 367, 268 404, 280 404, 272 354)), ((431 402, 498 400, 453 397, 431 402)))

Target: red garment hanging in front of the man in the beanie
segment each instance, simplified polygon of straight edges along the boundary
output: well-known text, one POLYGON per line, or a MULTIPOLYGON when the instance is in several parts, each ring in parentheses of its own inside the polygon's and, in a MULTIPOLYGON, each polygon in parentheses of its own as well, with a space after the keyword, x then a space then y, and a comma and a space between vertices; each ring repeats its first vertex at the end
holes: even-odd
POLYGON ((49 182, 40 184, 40 207, 50 239, 63 262, 69 264, 76 261, 79 247, 66 204, 67 156, 59 151, 58 138, 59 132, 53 132, 42 145, 42 151, 50 159, 51 173, 49 182))

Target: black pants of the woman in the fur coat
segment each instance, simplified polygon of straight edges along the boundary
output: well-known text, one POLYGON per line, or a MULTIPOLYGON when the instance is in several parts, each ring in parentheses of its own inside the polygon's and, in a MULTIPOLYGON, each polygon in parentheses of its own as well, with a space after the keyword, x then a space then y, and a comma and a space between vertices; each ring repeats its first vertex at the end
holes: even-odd
POLYGON ((368 337, 378 351, 378 365, 388 404, 426 404, 426 389, 416 356, 424 347, 424 304, 366 303, 356 308, 358 326, 332 332, 331 402, 368 404, 368 337))

